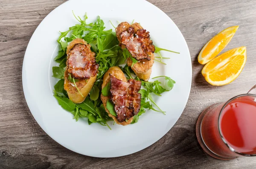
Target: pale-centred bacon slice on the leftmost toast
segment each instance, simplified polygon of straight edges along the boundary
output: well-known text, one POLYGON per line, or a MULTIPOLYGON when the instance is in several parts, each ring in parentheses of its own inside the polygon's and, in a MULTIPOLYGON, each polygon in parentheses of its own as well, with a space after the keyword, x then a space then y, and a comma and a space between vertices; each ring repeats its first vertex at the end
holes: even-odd
POLYGON ((88 46, 80 43, 74 45, 67 56, 68 72, 78 79, 94 77, 99 68, 94 56, 95 53, 88 46))

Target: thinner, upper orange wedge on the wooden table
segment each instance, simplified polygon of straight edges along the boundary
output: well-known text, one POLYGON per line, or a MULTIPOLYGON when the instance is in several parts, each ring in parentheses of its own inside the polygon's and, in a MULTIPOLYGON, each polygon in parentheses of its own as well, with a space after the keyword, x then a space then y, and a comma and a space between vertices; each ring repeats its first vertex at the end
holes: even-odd
POLYGON ((231 26, 212 37, 198 54, 198 62, 206 64, 216 57, 230 42, 239 26, 231 26))

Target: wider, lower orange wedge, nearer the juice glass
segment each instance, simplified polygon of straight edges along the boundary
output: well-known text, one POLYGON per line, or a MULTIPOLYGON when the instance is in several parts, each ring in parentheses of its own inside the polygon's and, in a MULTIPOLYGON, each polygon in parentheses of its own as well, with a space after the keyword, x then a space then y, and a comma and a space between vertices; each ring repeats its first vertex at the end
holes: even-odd
POLYGON ((207 63, 202 74, 213 86, 231 83, 242 72, 246 62, 246 47, 231 49, 207 63))

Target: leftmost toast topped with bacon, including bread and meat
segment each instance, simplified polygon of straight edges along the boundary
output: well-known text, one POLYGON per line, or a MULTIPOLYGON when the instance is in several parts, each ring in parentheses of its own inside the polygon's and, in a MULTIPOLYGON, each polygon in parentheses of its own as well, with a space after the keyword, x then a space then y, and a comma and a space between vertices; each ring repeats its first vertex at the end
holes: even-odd
POLYGON ((64 72, 64 89, 73 103, 82 103, 96 81, 99 65, 95 61, 95 53, 90 44, 83 39, 74 39, 67 46, 67 67, 64 72), (76 78, 76 89, 73 79, 76 78))

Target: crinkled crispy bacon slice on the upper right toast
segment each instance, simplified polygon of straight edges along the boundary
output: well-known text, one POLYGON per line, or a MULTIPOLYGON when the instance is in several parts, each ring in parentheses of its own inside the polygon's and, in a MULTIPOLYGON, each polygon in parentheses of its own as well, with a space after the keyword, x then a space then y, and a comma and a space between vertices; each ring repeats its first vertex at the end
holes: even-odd
POLYGON ((149 32, 146 32, 145 29, 139 29, 137 32, 134 32, 134 28, 129 27, 128 31, 120 34, 120 38, 121 43, 126 46, 132 57, 137 60, 150 60, 148 53, 154 53, 155 51, 153 42, 150 40, 149 32))

